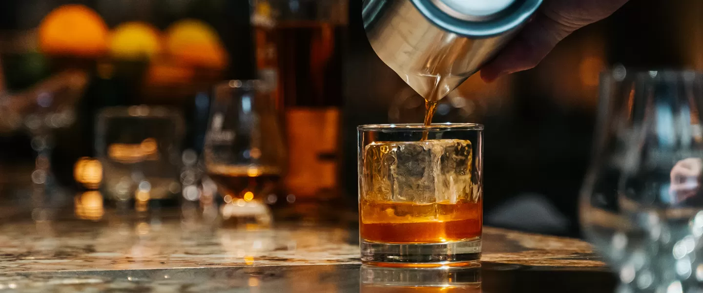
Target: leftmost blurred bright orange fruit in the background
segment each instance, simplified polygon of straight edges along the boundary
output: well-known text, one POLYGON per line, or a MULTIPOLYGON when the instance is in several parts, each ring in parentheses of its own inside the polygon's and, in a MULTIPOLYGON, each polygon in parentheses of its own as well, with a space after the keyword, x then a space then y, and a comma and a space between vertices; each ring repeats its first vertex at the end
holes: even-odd
POLYGON ((54 9, 38 28, 39 49, 49 55, 97 57, 108 47, 108 26, 91 8, 67 4, 54 9))

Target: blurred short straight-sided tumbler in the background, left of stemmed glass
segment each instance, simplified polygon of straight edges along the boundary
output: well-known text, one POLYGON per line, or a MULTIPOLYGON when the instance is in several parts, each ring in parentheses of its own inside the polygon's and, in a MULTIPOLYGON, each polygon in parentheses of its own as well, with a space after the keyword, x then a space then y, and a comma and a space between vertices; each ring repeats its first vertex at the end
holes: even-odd
POLYGON ((143 105, 102 110, 95 146, 108 199, 134 201, 137 209, 146 209, 150 200, 174 200, 181 191, 182 138, 183 119, 174 110, 143 105))

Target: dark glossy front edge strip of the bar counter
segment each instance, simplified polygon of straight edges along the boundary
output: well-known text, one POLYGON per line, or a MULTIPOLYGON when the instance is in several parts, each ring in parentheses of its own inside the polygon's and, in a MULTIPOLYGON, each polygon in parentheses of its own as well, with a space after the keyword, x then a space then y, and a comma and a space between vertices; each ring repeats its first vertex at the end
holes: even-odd
POLYGON ((360 264, 237 266, 0 275, 0 292, 612 292, 600 270, 484 263, 454 271, 360 264))

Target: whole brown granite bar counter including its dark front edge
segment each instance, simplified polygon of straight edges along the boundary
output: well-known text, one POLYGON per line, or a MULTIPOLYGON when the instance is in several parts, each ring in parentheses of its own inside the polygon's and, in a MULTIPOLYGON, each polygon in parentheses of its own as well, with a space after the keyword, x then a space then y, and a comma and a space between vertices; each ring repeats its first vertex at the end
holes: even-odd
MULTIPOLYGON (((354 223, 266 229, 180 219, 4 223, 0 292, 406 292, 365 287, 369 275, 416 273, 362 266, 358 235, 354 223)), ((480 264, 458 271, 478 287, 418 292, 614 287, 605 264, 580 240, 485 228, 483 250, 480 264)))

